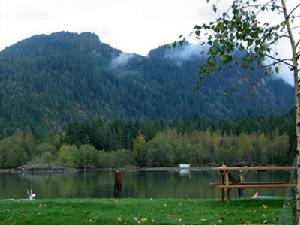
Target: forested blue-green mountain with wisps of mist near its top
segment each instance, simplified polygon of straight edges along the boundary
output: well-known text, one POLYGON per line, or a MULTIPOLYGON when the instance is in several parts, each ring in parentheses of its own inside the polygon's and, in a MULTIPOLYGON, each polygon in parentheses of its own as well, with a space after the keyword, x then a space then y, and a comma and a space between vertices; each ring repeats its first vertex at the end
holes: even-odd
POLYGON ((245 80, 241 69, 225 67, 194 94, 203 61, 198 52, 186 44, 160 47, 146 57, 128 54, 88 32, 20 41, 0 52, 0 133, 57 130, 95 115, 164 119, 197 113, 223 119, 283 113, 293 106, 293 88, 261 75, 262 68, 245 80))

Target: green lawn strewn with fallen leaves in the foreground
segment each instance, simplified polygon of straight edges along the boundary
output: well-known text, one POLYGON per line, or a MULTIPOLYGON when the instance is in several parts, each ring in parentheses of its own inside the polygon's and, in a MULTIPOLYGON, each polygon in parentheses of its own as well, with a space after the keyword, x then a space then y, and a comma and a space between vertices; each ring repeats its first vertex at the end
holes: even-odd
POLYGON ((283 200, 230 203, 189 199, 0 201, 0 224, 289 224, 290 212, 289 204, 283 200))

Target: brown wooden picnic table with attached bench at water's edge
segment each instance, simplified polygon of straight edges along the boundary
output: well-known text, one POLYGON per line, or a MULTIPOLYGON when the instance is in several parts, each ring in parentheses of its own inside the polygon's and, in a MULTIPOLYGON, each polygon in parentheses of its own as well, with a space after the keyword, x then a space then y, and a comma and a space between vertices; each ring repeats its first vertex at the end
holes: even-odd
MULTIPOLYGON (((284 171, 292 171, 296 170, 297 167, 293 166, 255 166, 255 167, 227 167, 226 165, 222 165, 220 167, 214 167, 213 170, 220 171, 221 173, 221 182, 214 183, 215 187, 221 189, 221 199, 224 201, 225 193, 227 197, 227 201, 230 200, 231 189, 239 189, 243 190, 245 188, 289 188, 296 187, 294 182, 245 182, 243 179, 238 181, 232 179, 231 171, 276 171, 276 170, 284 170, 284 171)), ((239 192, 240 195, 240 192, 239 192)))

